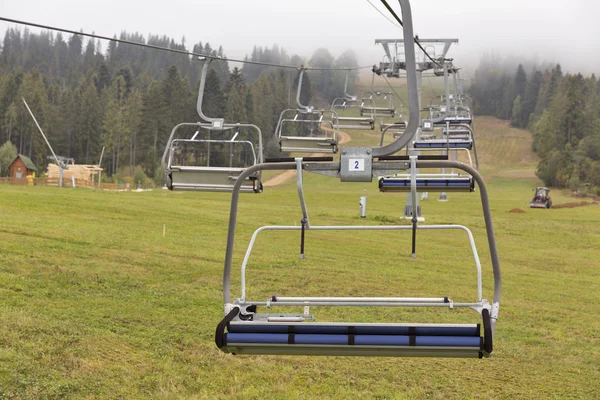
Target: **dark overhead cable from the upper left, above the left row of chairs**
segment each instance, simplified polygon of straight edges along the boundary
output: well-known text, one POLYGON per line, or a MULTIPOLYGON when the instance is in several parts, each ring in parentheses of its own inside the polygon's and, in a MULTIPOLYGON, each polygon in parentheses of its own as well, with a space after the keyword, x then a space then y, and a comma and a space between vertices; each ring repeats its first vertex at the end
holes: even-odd
POLYGON ((244 64, 264 65, 266 67, 289 68, 289 69, 296 69, 296 70, 305 69, 305 70, 312 70, 312 71, 353 71, 353 70, 359 70, 359 69, 373 68, 372 65, 367 65, 367 66, 363 66, 363 67, 339 67, 339 68, 303 67, 303 66, 297 66, 297 65, 275 64, 275 63, 267 63, 267 62, 261 62, 261 61, 239 60, 239 59, 235 59, 235 58, 212 56, 210 54, 194 53, 194 52, 186 51, 186 50, 171 49, 168 47, 155 46, 152 44, 132 42, 131 40, 110 38, 108 36, 96 35, 95 33, 87 33, 87 32, 83 32, 83 31, 78 32, 78 31, 74 31, 71 29, 57 28, 54 26, 42 25, 42 24, 37 24, 34 22, 22 21, 22 20, 17 20, 17 19, 12 19, 12 18, 0 17, 0 21, 11 22, 11 23, 20 24, 20 25, 33 26, 36 28, 47 29, 47 30, 51 30, 51 31, 70 33, 72 35, 86 36, 86 37, 91 37, 94 39, 108 40, 110 42, 130 44, 133 46, 145 47, 145 48, 153 49, 153 50, 168 51, 170 53, 183 54, 183 55, 187 55, 187 56, 211 58, 211 59, 215 59, 215 60, 228 61, 228 62, 239 62, 239 63, 244 63, 244 64))

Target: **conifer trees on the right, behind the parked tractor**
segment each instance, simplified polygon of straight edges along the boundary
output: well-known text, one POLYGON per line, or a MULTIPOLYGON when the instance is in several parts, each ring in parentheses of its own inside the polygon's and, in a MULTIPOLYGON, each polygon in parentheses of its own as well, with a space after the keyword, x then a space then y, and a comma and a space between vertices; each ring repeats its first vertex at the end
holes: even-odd
POLYGON ((469 88, 474 111, 533 133, 537 175, 547 186, 600 187, 600 82, 560 65, 516 70, 484 58, 469 88))

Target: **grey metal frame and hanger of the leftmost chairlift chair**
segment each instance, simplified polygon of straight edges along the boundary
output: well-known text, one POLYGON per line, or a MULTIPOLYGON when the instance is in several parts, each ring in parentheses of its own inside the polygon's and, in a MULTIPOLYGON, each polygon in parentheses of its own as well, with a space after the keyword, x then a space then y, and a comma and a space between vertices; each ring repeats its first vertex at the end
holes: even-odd
MULTIPOLYGON (((165 183, 171 190, 191 190, 191 191, 208 191, 208 192, 231 192, 236 180, 247 167, 232 166, 232 148, 233 146, 249 146, 252 151, 253 165, 262 163, 263 160, 263 143, 262 132, 260 128, 253 124, 229 124, 225 123, 222 118, 207 117, 202 111, 202 100, 204 97, 204 87, 206 83, 206 74, 212 58, 203 59, 202 72, 200 75, 200 86, 198 89, 198 101, 196 110, 198 115, 204 122, 181 123, 176 125, 171 131, 171 135, 167 140, 165 151, 161 160, 163 171, 165 171, 165 183), (196 127, 198 130, 189 139, 176 138, 179 129, 184 127, 196 127), (258 146, 249 140, 236 140, 237 133, 240 129, 249 129, 253 131, 258 138, 258 146), (197 139, 200 130, 206 130, 209 133, 208 139, 197 139), (216 140, 210 138, 210 133, 231 131, 233 134, 227 140, 216 140), (207 163, 206 166, 188 166, 174 165, 174 152, 178 144, 187 143, 206 143, 207 145, 207 163), (210 165, 210 148, 211 144, 230 144, 230 160, 229 165, 211 166, 210 165)), ((260 193, 262 192, 260 172, 248 176, 243 185, 242 192, 260 193)))

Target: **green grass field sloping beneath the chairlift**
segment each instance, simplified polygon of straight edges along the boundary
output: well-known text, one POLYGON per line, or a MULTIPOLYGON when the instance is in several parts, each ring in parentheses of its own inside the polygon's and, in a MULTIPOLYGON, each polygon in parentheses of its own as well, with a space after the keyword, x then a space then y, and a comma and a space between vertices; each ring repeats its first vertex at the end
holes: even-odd
MULTIPOLYGON (((229 194, 0 186, 0 399, 533 399, 600 393, 600 207, 530 210, 539 182, 527 132, 477 120, 503 273, 494 355, 483 360, 233 356, 222 313, 229 194), (515 208, 524 213, 509 212, 515 208), (166 235, 163 237, 163 226, 166 235)), ((378 131, 350 132, 349 145, 378 131)), ((405 195, 305 175, 312 224, 405 224, 405 195), (368 217, 358 218, 368 190, 368 217)), ((573 201, 553 191, 554 204, 573 201)), ((427 224, 471 228, 491 297, 479 194, 422 203, 427 224)), ((243 195, 233 295, 252 232, 299 224, 293 180, 243 195)), ((248 297, 450 296, 475 300, 466 237, 308 232, 259 236, 248 297)), ((321 321, 479 322, 462 310, 312 308, 321 321)))

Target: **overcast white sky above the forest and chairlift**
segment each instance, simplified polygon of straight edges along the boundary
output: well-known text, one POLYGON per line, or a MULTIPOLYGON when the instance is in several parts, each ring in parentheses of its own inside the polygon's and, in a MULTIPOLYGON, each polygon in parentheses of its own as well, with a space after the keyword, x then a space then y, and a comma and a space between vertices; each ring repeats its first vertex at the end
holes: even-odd
MULTIPOLYGON (((241 58, 254 45, 275 43, 310 57, 318 47, 334 56, 353 49, 361 65, 380 61, 376 38, 401 31, 366 0, 0 0, 0 15, 112 36, 122 30, 166 34, 188 45, 222 45, 241 58)), ((385 12, 379 0, 371 0, 385 12)), ((388 0, 399 13, 396 0, 388 0)), ((449 56, 473 66, 483 53, 534 56, 558 61, 568 71, 600 72, 600 1, 597 0, 413 0, 415 33, 421 38, 458 38, 449 56)), ((10 24, 0 22, 2 32, 10 24)), ((103 44, 106 48, 106 44, 103 44)))

